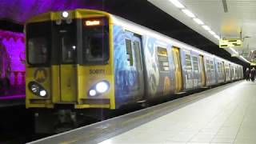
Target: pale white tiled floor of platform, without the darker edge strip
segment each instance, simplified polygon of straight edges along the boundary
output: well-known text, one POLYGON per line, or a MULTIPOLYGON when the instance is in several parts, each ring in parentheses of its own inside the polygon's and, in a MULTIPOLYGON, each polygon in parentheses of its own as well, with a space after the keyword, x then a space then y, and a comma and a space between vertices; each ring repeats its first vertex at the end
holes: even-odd
POLYGON ((137 143, 256 144, 256 83, 237 82, 198 102, 100 142, 137 143))

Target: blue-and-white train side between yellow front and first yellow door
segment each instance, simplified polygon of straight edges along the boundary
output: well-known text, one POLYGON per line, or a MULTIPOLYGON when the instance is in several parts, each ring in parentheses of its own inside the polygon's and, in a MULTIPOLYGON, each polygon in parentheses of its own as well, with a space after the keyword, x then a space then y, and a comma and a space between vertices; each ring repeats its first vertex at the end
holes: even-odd
POLYGON ((122 26, 114 26, 114 79, 117 107, 129 102, 174 94, 175 89, 175 67, 171 45, 142 35, 140 54, 141 65, 144 66, 138 70, 136 68, 138 58, 132 40, 134 35, 138 34, 131 31, 125 30, 122 26), (131 46, 127 46, 130 42, 131 46))

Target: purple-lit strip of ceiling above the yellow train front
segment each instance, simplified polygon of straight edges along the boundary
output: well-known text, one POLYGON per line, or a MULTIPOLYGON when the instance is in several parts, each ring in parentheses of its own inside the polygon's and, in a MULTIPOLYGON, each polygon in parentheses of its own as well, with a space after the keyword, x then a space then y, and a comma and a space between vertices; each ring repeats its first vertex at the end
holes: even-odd
POLYGON ((0 18, 24 23, 36 14, 76 8, 102 10, 102 0, 1 0, 0 18))

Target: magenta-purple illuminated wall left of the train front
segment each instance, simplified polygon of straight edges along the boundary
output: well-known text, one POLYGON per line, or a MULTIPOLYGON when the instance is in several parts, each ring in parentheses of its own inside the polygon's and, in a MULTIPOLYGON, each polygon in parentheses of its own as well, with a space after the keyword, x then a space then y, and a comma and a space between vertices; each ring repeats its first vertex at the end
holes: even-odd
POLYGON ((24 34, 0 30, 0 96, 25 95, 24 34))

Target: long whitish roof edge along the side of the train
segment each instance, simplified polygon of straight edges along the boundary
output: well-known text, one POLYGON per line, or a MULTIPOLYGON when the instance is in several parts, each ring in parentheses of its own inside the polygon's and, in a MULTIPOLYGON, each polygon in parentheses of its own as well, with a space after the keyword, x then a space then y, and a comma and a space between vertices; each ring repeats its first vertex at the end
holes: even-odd
MULTIPOLYGON (((162 40, 163 42, 168 42, 168 43, 172 43, 174 46, 177 46, 181 49, 186 49, 186 50, 192 50, 192 51, 195 51, 197 52, 198 54, 203 54, 203 55, 207 55, 208 57, 210 58, 217 58, 219 60, 222 60, 224 62, 230 62, 224 58, 220 58, 214 54, 210 54, 204 50, 200 50, 194 46, 190 46, 184 42, 180 42, 174 38, 170 38, 164 34, 161 34, 157 31, 154 31, 154 30, 150 30, 149 28, 145 27, 145 26, 141 26, 141 25, 138 25, 137 23, 134 23, 134 22, 130 22, 129 20, 126 20, 124 18, 121 18, 121 17, 118 17, 114 14, 110 14, 110 18, 112 18, 112 21, 115 25, 118 25, 118 26, 122 26, 124 27, 126 30, 129 30, 129 31, 132 31, 136 34, 141 34, 141 35, 149 35, 149 36, 152 36, 154 38, 158 38, 158 40, 162 40)), ((234 65, 238 65, 234 62, 230 62, 234 65)), ((238 65, 240 66, 240 65, 238 65)))

